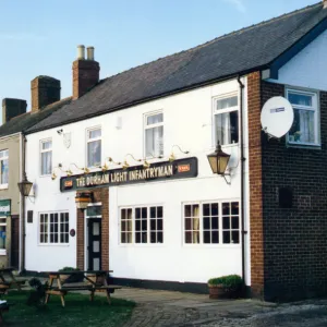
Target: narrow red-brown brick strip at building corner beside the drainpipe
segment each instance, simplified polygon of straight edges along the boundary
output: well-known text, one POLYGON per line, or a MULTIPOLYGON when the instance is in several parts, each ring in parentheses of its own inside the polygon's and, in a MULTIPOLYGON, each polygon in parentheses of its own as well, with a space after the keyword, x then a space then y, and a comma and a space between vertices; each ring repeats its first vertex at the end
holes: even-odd
POLYGON ((263 235, 263 167, 261 138, 261 73, 247 76, 249 166, 250 166, 250 230, 251 289, 256 298, 264 296, 264 235, 263 235))

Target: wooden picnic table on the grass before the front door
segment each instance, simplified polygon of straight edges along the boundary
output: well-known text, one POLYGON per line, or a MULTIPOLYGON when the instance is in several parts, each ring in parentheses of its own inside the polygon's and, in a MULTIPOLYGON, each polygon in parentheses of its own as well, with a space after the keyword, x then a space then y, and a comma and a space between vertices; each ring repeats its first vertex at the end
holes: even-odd
POLYGON ((120 289, 120 286, 108 284, 107 276, 112 270, 74 270, 74 271, 48 271, 49 282, 48 290, 46 291, 46 301, 49 302, 50 295, 59 295, 61 304, 64 306, 64 296, 69 291, 89 291, 89 300, 94 300, 95 292, 105 292, 108 303, 111 304, 110 293, 113 293, 116 289, 120 289), (83 277, 83 282, 66 282, 66 277, 83 277), (53 286, 56 281, 57 286, 53 286), (86 281, 86 282, 85 282, 86 281))

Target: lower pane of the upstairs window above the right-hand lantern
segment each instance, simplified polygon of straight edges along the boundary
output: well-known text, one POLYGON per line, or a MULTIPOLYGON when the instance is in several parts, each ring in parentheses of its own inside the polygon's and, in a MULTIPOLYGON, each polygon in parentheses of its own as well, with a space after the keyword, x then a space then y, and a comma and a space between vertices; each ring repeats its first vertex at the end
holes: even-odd
POLYGON ((239 112, 231 111, 215 114, 216 142, 221 145, 239 142, 239 112))

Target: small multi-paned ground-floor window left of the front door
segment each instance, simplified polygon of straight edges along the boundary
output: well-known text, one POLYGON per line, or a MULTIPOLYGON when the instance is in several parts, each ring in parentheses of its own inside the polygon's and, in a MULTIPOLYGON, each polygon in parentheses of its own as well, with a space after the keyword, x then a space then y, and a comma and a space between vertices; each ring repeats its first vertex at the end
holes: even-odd
POLYGON ((39 243, 69 243, 69 213, 39 214, 39 243))

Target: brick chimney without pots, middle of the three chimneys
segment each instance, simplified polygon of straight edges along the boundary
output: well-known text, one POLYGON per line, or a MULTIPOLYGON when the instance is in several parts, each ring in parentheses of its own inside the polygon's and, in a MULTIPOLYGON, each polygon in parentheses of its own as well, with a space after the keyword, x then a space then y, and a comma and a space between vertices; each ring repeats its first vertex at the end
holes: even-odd
POLYGON ((32 112, 60 100, 60 81, 50 76, 37 76, 31 82, 32 112))

